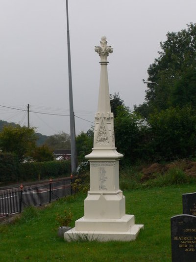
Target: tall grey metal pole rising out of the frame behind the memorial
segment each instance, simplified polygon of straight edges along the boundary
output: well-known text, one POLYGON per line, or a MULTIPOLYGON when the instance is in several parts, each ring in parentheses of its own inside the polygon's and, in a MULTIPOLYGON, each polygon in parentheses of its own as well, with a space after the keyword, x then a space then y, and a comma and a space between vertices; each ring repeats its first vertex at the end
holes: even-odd
POLYGON ((67 44, 68 44, 68 72, 69 72, 69 98, 70 98, 70 136, 71 136, 71 162, 72 174, 76 172, 76 142, 75 142, 75 120, 73 111, 73 91, 72 91, 72 67, 71 67, 71 51, 70 51, 70 30, 68 16, 68 0, 66 0, 67 11, 67 44))

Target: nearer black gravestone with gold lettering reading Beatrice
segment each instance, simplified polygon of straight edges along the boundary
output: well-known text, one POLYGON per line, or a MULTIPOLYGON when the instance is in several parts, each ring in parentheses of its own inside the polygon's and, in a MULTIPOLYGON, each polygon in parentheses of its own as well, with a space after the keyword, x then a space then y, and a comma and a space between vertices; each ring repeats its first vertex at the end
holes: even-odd
POLYGON ((196 261, 196 216, 171 218, 172 262, 196 261))

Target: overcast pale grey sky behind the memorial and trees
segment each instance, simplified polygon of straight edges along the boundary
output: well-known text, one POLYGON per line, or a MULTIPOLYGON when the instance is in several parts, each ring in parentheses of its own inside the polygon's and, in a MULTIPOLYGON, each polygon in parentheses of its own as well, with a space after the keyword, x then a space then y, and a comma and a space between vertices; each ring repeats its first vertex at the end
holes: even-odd
MULTIPOLYGON (((73 107, 94 122, 100 64, 94 47, 106 35, 110 93, 126 106, 144 102, 149 64, 168 31, 196 23, 196 0, 69 0, 73 107)), ((66 0, 0 0, 0 105, 69 115, 66 0)), ((24 111, 0 107, 0 119, 27 124, 24 111)), ((69 116, 30 113, 44 135, 70 133, 69 116)), ((75 118, 76 134, 92 123, 75 118)))

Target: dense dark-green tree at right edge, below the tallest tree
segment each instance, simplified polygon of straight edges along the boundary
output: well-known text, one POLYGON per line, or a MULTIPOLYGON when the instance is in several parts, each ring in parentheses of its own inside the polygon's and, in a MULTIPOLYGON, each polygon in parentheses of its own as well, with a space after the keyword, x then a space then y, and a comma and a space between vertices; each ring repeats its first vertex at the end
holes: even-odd
POLYGON ((172 160, 195 156, 196 110, 169 108, 149 117, 154 160, 172 160))

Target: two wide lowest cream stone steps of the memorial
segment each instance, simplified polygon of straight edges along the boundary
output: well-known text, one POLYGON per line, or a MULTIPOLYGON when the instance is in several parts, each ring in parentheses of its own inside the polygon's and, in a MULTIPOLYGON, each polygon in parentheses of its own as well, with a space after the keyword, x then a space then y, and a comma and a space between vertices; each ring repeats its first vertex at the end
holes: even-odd
POLYGON ((98 241, 135 240, 144 225, 135 225, 134 215, 124 215, 120 219, 90 219, 82 217, 75 221, 75 227, 64 234, 65 240, 78 238, 98 241))

